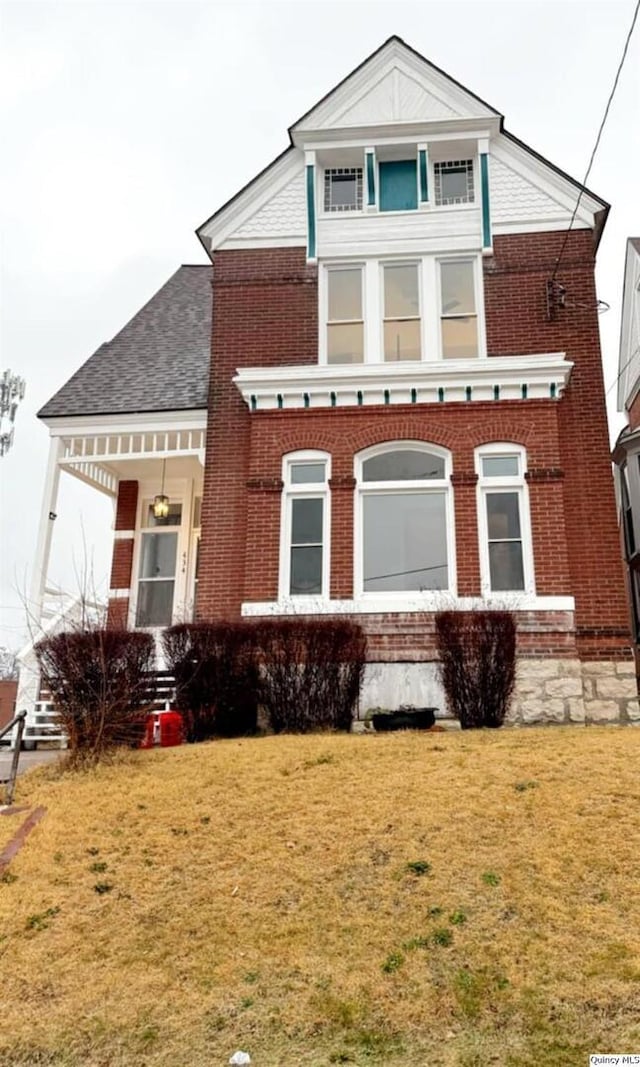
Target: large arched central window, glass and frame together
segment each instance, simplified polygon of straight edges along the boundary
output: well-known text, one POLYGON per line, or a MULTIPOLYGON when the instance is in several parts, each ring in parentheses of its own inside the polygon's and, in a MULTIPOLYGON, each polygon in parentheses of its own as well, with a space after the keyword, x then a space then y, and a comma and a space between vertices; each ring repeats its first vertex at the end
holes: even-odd
POLYGON ((356 457, 356 574, 363 593, 452 588, 449 457, 420 442, 356 457))

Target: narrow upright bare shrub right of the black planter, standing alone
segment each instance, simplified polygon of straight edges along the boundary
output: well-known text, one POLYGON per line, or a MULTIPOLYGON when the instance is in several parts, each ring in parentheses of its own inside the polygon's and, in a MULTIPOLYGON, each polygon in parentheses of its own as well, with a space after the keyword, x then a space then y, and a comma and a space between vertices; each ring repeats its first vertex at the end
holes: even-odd
POLYGON ((515 685, 511 611, 441 611, 435 617, 439 675, 463 730, 500 727, 515 685))

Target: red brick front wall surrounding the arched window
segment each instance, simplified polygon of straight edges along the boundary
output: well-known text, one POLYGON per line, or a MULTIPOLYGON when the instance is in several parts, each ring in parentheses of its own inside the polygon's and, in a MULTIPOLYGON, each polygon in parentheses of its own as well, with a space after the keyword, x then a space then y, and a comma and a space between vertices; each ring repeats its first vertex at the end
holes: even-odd
MULTIPOLYGON (((215 254, 201 617, 237 618, 243 601, 276 599, 282 457, 303 448, 332 456, 331 595, 353 596, 353 457, 402 439, 451 452, 458 590, 479 595, 474 449, 506 441, 527 449, 537 593, 576 601, 575 624, 571 614, 522 612, 521 652, 577 653, 587 659, 628 655, 592 235, 571 234, 558 277, 566 306, 548 321, 546 282, 563 238, 562 233, 497 237, 494 255, 484 260, 490 356, 565 352, 574 369, 559 401, 250 414, 231 381, 237 368, 318 362, 317 270, 306 264, 303 249, 215 254)), ((374 658, 411 658, 417 644, 423 653, 432 643, 429 618, 362 619, 374 658)))

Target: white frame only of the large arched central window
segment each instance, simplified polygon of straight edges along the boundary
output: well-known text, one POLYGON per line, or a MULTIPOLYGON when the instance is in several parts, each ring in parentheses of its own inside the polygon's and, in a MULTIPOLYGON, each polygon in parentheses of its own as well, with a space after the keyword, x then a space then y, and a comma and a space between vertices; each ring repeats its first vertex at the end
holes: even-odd
MULTIPOLYGON (((373 445, 371 448, 365 448, 361 452, 356 452, 353 458, 353 473, 355 477, 355 498, 353 506, 354 514, 354 536, 353 536, 353 584, 354 584, 354 596, 356 599, 363 598, 364 602, 380 601, 381 605, 385 602, 415 602, 416 598, 430 598, 434 596, 455 596, 458 590, 458 578, 457 578, 457 567, 455 567, 455 513, 453 505, 453 487, 451 484, 451 472, 452 462, 451 453, 446 449, 442 448, 439 445, 432 445, 428 441, 415 441, 415 440, 403 440, 403 441, 385 441, 383 444, 373 445), (417 481, 385 481, 385 482, 365 482, 363 481, 363 465, 367 460, 372 459, 374 456, 382 456, 385 452, 399 452, 399 451, 423 451, 432 452, 434 456, 439 456, 445 461, 445 477, 442 479, 429 479, 429 480, 417 480, 417 481), (429 589, 429 590, 395 590, 395 591, 370 591, 365 592, 364 589, 364 574, 363 574, 363 557, 364 557, 364 506, 363 500, 365 496, 381 496, 384 493, 445 493, 445 520, 446 520, 446 531, 447 531, 447 570, 448 570, 448 580, 449 585, 446 589, 429 589)), ((397 610, 397 608, 389 608, 389 610, 397 610)))

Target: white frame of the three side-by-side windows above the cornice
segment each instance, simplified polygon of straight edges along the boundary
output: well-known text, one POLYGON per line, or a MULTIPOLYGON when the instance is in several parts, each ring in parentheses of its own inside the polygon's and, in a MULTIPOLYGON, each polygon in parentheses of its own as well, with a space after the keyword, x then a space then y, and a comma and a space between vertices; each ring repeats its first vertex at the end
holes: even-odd
POLYGON ((358 367, 372 364, 383 364, 389 368, 398 366, 384 360, 384 267, 418 266, 418 297, 420 304, 420 345, 422 359, 402 362, 401 366, 419 367, 423 363, 443 364, 462 363, 464 361, 445 360, 442 341, 442 286, 441 264, 473 262, 474 293, 476 298, 476 315, 478 322, 478 355, 468 356, 474 363, 486 359, 486 330, 484 318, 484 286, 482 276, 482 256, 478 251, 458 252, 454 255, 422 255, 422 256, 377 256, 357 259, 326 260, 320 264, 318 277, 318 362, 322 366, 351 367, 355 372, 358 367), (358 267, 362 270, 363 283, 363 362, 350 364, 329 364, 327 325, 329 325, 329 273, 332 270, 345 270, 358 267))

